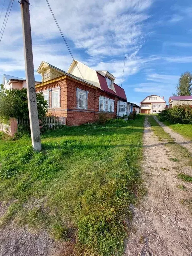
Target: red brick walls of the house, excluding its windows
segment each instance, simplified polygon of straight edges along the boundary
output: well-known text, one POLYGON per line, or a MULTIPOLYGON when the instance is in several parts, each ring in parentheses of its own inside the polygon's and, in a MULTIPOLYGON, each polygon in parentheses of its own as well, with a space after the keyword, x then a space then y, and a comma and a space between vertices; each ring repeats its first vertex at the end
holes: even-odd
MULTIPOLYGON (((107 118, 115 118, 117 113, 117 97, 103 92, 99 88, 91 87, 84 83, 79 82, 78 80, 73 80, 68 77, 63 78, 60 81, 52 82, 49 84, 38 87, 36 91, 42 91, 47 89, 54 89, 60 86, 61 90, 61 106, 60 108, 48 109, 48 115, 66 117, 66 124, 69 126, 80 125, 84 123, 93 123, 98 120, 99 113, 103 113, 107 118), (76 98, 76 89, 88 91, 88 109, 80 110, 77 108, 77 98, 76 98), (114 102, 114 112, 100 112, 99 111, 99 96, 104 96, 110 99, 115 100, 114 102)), ((51 93, 49 96, 49 101, 51 102, 51 93)))

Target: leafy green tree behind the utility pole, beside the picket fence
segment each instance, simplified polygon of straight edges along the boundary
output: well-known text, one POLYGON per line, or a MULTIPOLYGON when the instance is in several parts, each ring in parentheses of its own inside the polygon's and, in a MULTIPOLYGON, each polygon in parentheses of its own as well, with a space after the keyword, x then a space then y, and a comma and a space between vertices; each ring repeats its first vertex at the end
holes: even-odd
MULTIPOLYGON (((44 99, 43 93, 37 93, 37 109, 40 119, 45 116, 47 108, 48 103, 47 100, 44 99)), ((10 117, 29 119, 27 89, 7 90, 1 85, 0 120, 7 122, 10 117)))

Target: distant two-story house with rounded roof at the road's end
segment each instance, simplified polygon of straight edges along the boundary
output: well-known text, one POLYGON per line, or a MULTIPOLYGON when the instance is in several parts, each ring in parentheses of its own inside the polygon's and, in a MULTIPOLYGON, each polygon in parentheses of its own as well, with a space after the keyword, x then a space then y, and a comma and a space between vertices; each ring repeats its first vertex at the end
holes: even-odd
POLYGON ((160 113, 166 106, 164 96, 149 95, 140 102, 142 114, 160 113))

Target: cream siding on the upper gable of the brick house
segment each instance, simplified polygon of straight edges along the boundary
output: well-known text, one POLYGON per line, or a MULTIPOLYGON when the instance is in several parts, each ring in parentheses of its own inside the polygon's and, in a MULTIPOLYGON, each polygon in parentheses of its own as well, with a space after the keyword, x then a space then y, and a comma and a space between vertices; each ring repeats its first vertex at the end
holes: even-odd
POLYGON ((99 79, 98 79, 98 76, 97 76, 97 73, 96 73, 95 70, 93 70, 92 68, 84 65, 81 62, 76 61, 76 64, 77 65, 74 64, 72 67, 70 67, 67 72, 69 72, 70 74, 72 74, 74 76, 77 76, 81 79, 84 78, 85 81, 87 81, 88 83, 93 84, 98 88, 101 88, 100 83, 99 83, 99 79), (79 70, 81 71, 81 74, 82 74, 83 78, 82 78, 77 66, 78 66, 79 70))

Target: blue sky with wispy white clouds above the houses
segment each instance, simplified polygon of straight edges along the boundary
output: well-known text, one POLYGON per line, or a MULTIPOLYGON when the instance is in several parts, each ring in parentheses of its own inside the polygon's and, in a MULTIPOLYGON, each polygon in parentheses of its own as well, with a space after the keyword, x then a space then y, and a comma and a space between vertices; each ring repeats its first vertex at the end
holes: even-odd
MULTIPOLYGON (((8 1, 0 0, 0 29, 8 1), (2 11, 2 13, 1 13, 2 11)), ((67 71, 72 62, 46 0, 30 0, 35 80, 41 61, 67 71)), ((76 60, 107 70, 127 100, 175 93, 179 76, 192 71, 191 0, 49 0, 76 60)), ((0 42, 3 74, 25 78, 20 4, 15 0, 0 42)))

